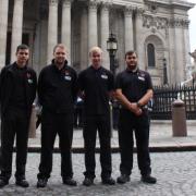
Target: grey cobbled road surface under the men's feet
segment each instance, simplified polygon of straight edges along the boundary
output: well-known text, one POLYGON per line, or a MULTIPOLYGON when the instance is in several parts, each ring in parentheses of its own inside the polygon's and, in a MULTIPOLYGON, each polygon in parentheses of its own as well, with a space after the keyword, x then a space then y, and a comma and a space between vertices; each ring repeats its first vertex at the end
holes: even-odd
MULTIPOLYGON (((14 155, 15 156, 15 155, 14 155)), ((95 185, 85 187, 84 155, 73 154, 74 177, 76 187, 63 185, 60 176, 60 155, 53 155, 53 171, 48 186, 42 189, 36 187, 36 175, 39 164, 39 154, 28 154, 26 177, 30 186, 21 188, 14 185, 14 177, 10 184, 0 189, 0 196, 195 196, 196 195, 196 152, 154 152, 151 154, 152 175, 158 179, 157 184, 147 185, 140 182, 137 169, 136 155, 134 155, 134 169, 131 182, 125 185, 107 186, 100 183, 99 155, 97 154, 97 168, 95 185)), ((119 154, 112 154, 113 174, 119 176, 119 154)), ((14 168, 14 167, 13 167, 14 168)), ((13 171, 14 172, 14 171, 13 171)))

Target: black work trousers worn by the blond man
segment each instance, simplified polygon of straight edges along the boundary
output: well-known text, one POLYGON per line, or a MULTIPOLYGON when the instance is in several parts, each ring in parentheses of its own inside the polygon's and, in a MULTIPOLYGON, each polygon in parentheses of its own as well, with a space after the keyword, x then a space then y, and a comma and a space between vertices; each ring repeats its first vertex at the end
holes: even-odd
POLYGON ((84 175, 87 177, 95 177, 95 147, 97 131, 100 142, 100 164, 101 177, 111 175, 111 145, 110 145, 110 118, 109 115, 91 115, 85 117, 84 121, 84 142, 85 142, 85 167, 84 175))

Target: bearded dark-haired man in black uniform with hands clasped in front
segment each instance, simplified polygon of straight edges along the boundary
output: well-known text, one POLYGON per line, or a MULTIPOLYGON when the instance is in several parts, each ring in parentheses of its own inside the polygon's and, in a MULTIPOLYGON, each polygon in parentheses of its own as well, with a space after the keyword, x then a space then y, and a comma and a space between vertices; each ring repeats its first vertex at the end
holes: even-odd
POLYGON ((150 175, 149 157, 149 117, 146 105, 152 97, 152 84, 149 74, 138 69, 137 54, 127 51, 125 54, 126 70, 117 76, 115 95, 122 103, 119 119, 119 145, 121 151, 121 175, 118 183, 130 181, 133 168, 133 131, 137 146, 137 162, 145 183, 156 183, 150 175))

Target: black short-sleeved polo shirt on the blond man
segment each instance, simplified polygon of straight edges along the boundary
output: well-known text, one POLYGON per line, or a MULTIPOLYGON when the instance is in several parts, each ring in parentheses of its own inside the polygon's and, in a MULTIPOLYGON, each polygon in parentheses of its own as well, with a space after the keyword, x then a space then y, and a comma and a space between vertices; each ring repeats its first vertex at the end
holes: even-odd
POLYGON ((100 66, 87 68, 78 75, 78 86, 85 94, 84 108, 87 115, 109 113, 109 91, 113 90, 113 75, 100 66))

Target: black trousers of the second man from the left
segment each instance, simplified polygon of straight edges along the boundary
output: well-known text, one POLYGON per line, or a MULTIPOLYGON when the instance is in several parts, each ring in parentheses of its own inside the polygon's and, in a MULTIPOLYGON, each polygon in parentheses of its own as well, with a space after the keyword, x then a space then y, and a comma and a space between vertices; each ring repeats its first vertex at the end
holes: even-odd
POLYGON ((72 177, 73 112, 41 114, 41 155, 38 179, 49 179, 52 171, 52 151, 57 134, 61 150, 61 176, 72 177))

